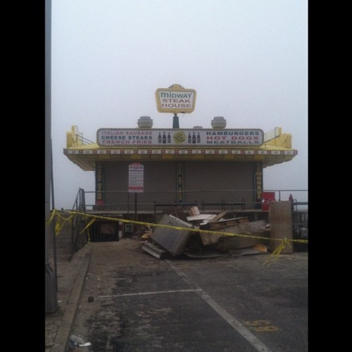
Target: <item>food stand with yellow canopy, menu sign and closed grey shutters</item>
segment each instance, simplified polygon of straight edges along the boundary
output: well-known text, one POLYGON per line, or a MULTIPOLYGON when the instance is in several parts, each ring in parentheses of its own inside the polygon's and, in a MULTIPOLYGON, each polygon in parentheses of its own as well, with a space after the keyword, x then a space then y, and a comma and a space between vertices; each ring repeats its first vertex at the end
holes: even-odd
POLYGON ((214 118, 210 129, 153 129, 143 117, 138 128, 101 128, 89 143, 73 126, 63 153, 82 170, 94 170, 95 209, 133 208, 136 197, 139 211, 163 204, 260 208, 263 168, 297 155, 291 134, 281 127, 227 129, 224 121, 214 118))

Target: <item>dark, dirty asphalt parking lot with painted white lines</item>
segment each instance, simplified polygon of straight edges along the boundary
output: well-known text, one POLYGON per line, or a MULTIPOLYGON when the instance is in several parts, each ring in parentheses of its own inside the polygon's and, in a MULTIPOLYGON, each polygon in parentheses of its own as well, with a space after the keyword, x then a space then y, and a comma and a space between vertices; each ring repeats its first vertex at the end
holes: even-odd
POLYGON ((308 351, 307 251, 158 259, 137 238, 81 251, 73 321, 46 351, 70 334, 94 352, 308 351))

